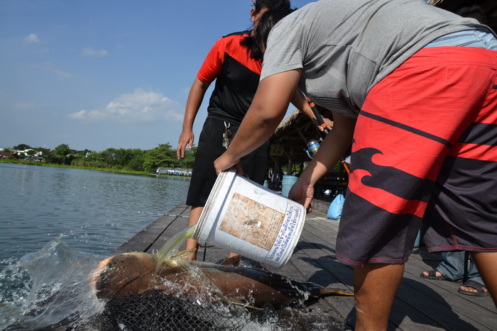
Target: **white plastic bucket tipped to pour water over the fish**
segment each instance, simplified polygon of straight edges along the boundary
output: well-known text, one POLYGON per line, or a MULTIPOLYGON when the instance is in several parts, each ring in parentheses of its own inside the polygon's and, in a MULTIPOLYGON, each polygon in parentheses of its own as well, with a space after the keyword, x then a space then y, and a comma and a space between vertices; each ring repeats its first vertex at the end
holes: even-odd
POLYGON ((283 267, 304 227, 305 208, 234 169, 217 177, 193 238, 273 267, 283 267))

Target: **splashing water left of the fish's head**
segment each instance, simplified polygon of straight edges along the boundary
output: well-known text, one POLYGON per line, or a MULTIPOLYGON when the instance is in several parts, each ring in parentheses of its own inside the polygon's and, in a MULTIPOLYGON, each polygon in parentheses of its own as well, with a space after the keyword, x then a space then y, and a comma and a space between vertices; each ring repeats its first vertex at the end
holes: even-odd
POLYGON ((104 303, 94 297, 88 279, 99 259, 72 251, 57 237, 40 251, 8 262, 0 273, 0 329, 61 321, 81 325, 101 313, 104 303))

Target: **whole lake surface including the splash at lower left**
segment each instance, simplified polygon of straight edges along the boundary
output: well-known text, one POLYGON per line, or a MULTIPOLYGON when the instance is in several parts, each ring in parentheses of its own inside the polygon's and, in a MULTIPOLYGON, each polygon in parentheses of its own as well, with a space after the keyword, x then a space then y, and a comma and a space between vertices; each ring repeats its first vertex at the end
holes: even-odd
POLYGON ((185 201, 190 179, 0 164, 0 185, 0 330, 35 329, 102 309, 89 273, 185 201))

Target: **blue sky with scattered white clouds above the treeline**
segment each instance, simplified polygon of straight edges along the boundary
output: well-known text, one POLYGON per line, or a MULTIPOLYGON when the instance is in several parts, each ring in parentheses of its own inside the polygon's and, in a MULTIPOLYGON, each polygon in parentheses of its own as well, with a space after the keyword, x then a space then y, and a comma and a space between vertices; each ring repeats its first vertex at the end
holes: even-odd
POLYGON ((222 35, 251 28, 251 4, 0 0, 0 147, 177 147, 198 69, 222 35))

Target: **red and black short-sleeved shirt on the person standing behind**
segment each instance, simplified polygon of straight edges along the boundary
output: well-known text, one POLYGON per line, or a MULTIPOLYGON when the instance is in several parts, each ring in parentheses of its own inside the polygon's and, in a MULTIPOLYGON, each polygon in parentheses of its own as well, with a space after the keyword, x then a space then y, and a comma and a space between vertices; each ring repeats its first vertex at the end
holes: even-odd
POLYGON ((256 94, 261 76, 262 60, 253 60, 246 47, 240 45, 250 31, 226 35, 217 40, 204 60, 197 77, 213 82, 207 118, 240 125, 256 94))

